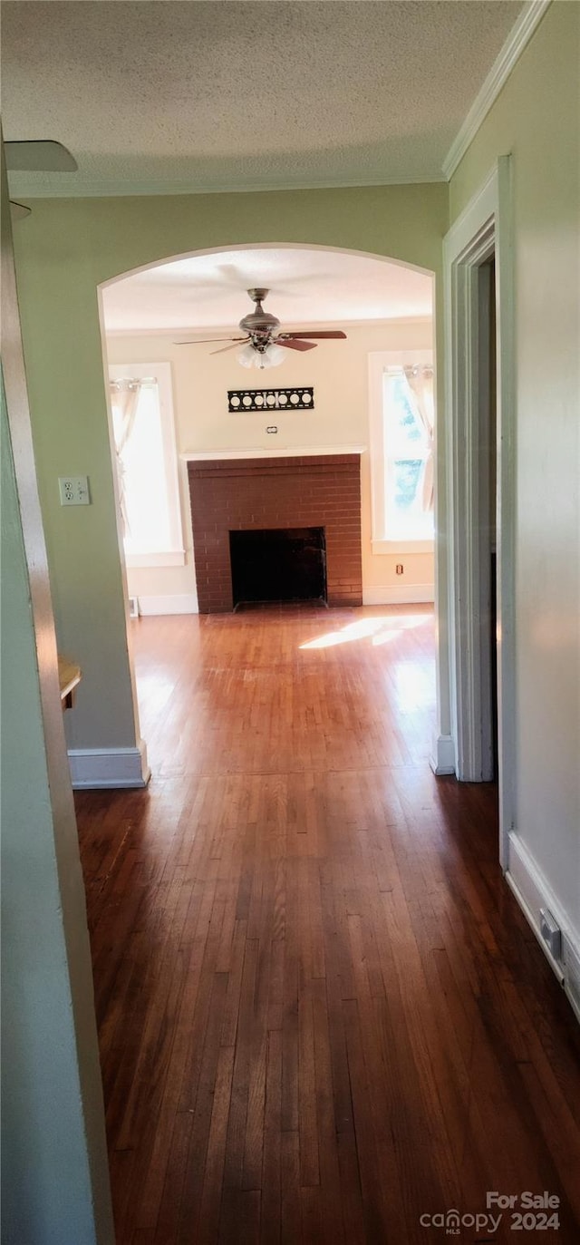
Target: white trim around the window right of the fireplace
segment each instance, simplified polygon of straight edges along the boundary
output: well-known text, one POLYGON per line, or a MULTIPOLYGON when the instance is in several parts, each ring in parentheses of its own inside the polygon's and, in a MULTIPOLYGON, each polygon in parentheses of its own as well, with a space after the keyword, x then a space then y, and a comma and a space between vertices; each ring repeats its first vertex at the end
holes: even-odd
POLYGON ((426 364, 433 366, 433 351, 423 350, 373 350, 368 354, 368 437, 371 459, 371 549, 373 554, 433 553, 432 538, 403 537, 397 540, 386 530, 385 498, 385 411, 383 375, 390 367, 426 364))

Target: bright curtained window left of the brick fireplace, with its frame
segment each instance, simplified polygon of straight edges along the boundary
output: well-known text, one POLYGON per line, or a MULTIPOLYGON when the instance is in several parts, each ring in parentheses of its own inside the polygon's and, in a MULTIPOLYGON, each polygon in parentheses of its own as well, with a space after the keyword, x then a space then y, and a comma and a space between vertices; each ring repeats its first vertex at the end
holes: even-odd
POLYGON ((127 565, 183 564, 169 365, 115 365, 110 380, 127 565))

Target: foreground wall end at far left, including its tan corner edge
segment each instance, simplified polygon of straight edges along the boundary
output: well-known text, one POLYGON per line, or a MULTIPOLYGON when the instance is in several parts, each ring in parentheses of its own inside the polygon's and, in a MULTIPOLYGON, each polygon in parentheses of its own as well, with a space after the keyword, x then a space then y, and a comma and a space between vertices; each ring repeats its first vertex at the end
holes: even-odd
POLYGON ((2 161, 2 1245, 113 1245, 91 951, 2 161))

